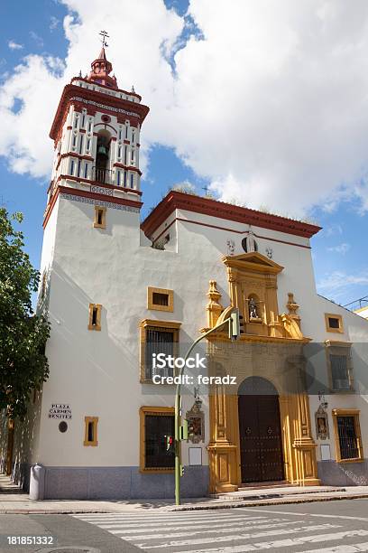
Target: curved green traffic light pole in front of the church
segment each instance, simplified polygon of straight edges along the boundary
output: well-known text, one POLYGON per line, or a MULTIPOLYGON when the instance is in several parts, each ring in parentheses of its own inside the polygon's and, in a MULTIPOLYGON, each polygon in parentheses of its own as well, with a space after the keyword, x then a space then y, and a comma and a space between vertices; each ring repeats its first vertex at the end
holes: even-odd
POLYGON ((183 366, 179 370, 179 382, 177 384, 177 389, 175 393, 175 504, 180 504, 180 476, 182 475, 181 467, 181 441, 180 441, 180 419, 181 419, 181 378, 184 374, 184 369, 186 366, 187 359, 189 358, 190 353, 194 350, 198 342, 203 340, 208 336, 208 334, 215 333, 225 324, 229 324, 229 336, 232 339, 236 339, 240 334, 240 324, 239 324, 239 310, 235 307, 227 307, 224 313, 220 316, 216 326, 211 328, 207 333, 201 334, 195 340, 189 350, 187 351, 183 366), (229 316, 226 316, 229 315, 229 316))

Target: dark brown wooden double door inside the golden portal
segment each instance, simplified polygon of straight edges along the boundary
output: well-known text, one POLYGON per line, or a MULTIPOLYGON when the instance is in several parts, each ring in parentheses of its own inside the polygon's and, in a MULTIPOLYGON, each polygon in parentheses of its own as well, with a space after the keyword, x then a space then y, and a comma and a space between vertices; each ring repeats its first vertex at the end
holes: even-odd
POLYGON ((284 479, 279 396, 238 397, 242 482, 284 479))

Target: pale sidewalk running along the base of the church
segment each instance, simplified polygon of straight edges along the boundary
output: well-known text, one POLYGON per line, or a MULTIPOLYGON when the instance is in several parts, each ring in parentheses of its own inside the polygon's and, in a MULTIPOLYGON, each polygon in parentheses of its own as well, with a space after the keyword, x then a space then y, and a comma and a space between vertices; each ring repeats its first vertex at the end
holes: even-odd
POLYGON ((216 498, 185 498, 180 506, 174 500, 45 500, 32 501, 28 494, 0 475, 0 514, 69 514, 83 512, 143 512, 143 511, 202 511, 231 509, 257 505, 281 505, 312 501, 336 501, 368 498, 368 486, 281 486, 251 488, 241 492, 220 494, 216 498))

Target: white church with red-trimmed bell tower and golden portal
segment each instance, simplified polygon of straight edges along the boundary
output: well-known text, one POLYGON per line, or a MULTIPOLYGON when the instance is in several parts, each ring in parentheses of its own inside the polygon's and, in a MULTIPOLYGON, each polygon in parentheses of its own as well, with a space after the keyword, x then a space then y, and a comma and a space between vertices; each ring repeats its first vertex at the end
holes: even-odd
POLYGON ((368 320, 317 295, 320 228, 179 190, 142 221, 149 108, 118 87, 105 44, 91 68, 51 127, 38 298, 50 377, 15 425, 14 479, 33 499, 173 497, 175 385, 160 378, 176 370, 154 354, 183 356, 233 306, 239 339, 220 328, 201 342, 205 369, 183 391, 183 496, 368 484, 368 320))

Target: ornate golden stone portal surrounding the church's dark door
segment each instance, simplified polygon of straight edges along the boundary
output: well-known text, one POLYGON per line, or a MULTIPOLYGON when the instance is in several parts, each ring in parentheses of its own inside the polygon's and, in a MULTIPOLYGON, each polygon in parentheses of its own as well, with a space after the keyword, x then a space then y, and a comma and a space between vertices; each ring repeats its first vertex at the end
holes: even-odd
MULTIPOLYGON (((225 332, 208 337, 209 374, 236 376, 238 385, 252 376, 271 382, 279 394, 285 480, 318 485, 304 382, 303 345, 310 340, 301 333, 299 305, 291 293, 289 314, 279 314, 277 275, 283 267, 257 252, 225 257, 223 262, 231 305, 244 316, 244 333, 237 342, 231 342, 225 332)), ((215 281, 210 281, 207 296, 208 328, 212 328, 223 312, 215 281)), ((237 394, 235 386, 210 389, 210 492, 234 492, 242 484, 237 394)))

